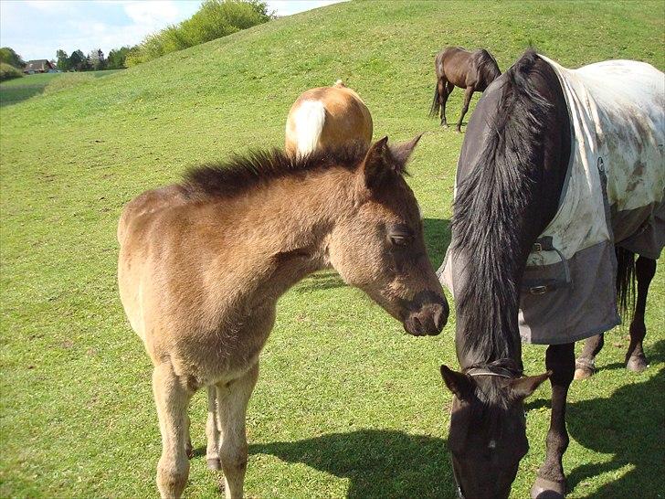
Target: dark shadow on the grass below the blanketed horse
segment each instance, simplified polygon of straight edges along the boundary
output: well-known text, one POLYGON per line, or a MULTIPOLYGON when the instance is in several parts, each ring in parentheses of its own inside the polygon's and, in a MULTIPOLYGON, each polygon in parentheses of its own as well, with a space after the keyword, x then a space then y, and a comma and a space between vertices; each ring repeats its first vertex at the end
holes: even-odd
MULTIPOLYGON (((652 362, 662 362, 665 340, 660 340, 646 353, 652 362)), ((623 364, 615 364, 625 368, 623 364)), ((615 368, 615 364, 606 368, 615 368)), ((565 420, 570 436, 586 449, 612 454, 608 462, 588 462, 567 472, 569 491, 579 487, 575 492, 584 494, 585 483, 603 473, 623 474, 584 497, 658 497, 665 490, 662 468, 665 462, 665 369, 646 381, 635 382, 639 378, 640 375, 626 372, 626 385, 610 396, 568 404, 565 420)), ((526 407, 549 408, 550 400, 536 399, 526 407)))

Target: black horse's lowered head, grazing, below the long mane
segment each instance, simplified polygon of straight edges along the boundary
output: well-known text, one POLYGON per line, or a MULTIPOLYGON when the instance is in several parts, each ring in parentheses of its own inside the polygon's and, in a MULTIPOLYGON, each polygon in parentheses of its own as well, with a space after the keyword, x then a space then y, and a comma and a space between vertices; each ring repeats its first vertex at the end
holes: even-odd
POLYGON ((473 374, 441 366, 453 393, 448 446, 458 494, 462 499, 507 498, 529 450, 523 400, 550 373, 512 377, 495 369, 469 372, 473 374))

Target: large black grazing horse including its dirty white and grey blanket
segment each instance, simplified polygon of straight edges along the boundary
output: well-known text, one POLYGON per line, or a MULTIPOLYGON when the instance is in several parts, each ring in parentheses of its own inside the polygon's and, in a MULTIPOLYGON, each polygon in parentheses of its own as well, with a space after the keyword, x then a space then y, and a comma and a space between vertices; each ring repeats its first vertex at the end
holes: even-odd
POLYGON ((642 355, 644 302, 665 245, 664 87, 642 62, 571 70, 530 50, 479 101, 439 269, 457 311, 461 372, 441 366, 441 375, 454 394, 449 450, 461 497, 508 497, 528 451, 523 399, 547 378, 551 423, 531 494, 564 497, 575 341, 620 322, 616 285, 621 302, 634 266, 628 366, 642 355), (523 377, 521 339, 549 345, 545 374, 523 377))

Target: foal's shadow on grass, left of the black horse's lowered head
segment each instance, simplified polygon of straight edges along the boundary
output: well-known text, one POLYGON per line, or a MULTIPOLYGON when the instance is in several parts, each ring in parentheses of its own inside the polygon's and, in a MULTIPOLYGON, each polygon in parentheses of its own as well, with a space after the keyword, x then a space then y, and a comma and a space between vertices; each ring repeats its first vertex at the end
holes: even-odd
POLYGON ((349 479, 347 497, 452 497, 454 485, 446 441, 394 430, 332 433, 293 442, 249 446, 349 479))

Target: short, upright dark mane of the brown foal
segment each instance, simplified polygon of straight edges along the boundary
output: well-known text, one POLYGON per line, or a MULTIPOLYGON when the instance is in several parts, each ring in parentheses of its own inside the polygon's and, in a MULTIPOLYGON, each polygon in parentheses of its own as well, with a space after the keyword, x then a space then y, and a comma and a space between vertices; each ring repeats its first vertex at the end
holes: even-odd
POLYGON ((237 196, 285 176, 305 175, 335 166, 353 171, 362 163, 366 151, 367 146, 360 141, 319 149, 297 158, 279 149, 251 151, 225 162, 190 169, 181 187, 189 198, 237 196))

